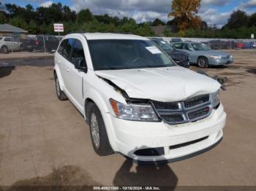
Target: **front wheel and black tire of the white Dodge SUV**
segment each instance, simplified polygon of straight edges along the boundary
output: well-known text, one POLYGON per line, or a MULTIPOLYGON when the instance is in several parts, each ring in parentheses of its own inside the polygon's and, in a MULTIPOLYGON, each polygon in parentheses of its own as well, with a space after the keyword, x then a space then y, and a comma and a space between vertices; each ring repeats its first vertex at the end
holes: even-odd
POLYGON ((108 140, 108 134, 105 128, 105 123, 96 104, 90 102, 87 106, 89 109, 89 127, 91 134, 91 143, 94 151, 99 156, 113 154, 113 149, 108 140))

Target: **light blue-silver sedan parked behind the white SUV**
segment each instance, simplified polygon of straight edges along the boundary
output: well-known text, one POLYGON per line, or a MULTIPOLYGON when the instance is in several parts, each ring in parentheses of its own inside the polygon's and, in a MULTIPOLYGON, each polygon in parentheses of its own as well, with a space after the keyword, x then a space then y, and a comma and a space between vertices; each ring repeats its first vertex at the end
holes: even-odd
POLYGON ((234 62, 233 55, 222 51, 211 50, 206 44, 200 42, 176 42, 172 46, 178 50, 187 52, 190 63, 195 63, 201 68, 225 66, 234 62))

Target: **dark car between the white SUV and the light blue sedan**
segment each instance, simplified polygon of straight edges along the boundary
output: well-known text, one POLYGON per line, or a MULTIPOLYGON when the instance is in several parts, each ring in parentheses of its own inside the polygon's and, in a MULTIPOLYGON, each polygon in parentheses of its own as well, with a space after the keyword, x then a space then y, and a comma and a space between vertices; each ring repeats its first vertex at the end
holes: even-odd
POLYGON ((186 52, 182 52, 180 50, 175 50, 170 44, 167 44, 163 39, 151 39, 153 42, 157 44, 162 50, 164 50, 170 58, 175 61, 178 66, 182 66, 184 68, 189 68, 189 55, 186 52))

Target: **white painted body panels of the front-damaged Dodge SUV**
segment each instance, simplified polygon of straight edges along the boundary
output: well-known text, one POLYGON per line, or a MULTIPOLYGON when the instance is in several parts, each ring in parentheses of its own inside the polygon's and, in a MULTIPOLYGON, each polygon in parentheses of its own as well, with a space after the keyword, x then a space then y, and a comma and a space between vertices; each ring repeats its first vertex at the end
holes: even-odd
MULTIPOLYGON (((140 36, 123 34, 86 34, 86 37, 89 39, 145 39, 140 36)), ((154 101, 183 101, 195 95, 214 93, 220 87, 214 79, 179 66, 159 69, 94 71, 86 38, 82 34, 69 34, 64 37, 64 39, 68 38, 79 39, 83 43, 89 69, 87 73, 75 69, 74 64, 69 63, 57 51, 54 69, 58 75, 61 90, 64 90, 69 100, 85 118, 86 99, 90 98, 94 101, 102 114, 110 146, 115 152, 121 152, 123 155, 141 161, 170 160, 211 147, 222 138, 222 128, 225 127, 226 121, 222 104, 217 110, 214 109, 209 117, 181 125, 121 120, 115 116, 110 106, 110 98, 122 104, 127 104, 127 101, 102 77, 125 90, 131 98, 154 101), (169 148, 172 145, 195 141, 206 136, 208 139, 197 144, 173 150, 169 148), (165 151, 169 149, 170 152, 166 152, 163 156, 138 157, 133 155, 138 149, 156 147, 164 147, 165 151)))

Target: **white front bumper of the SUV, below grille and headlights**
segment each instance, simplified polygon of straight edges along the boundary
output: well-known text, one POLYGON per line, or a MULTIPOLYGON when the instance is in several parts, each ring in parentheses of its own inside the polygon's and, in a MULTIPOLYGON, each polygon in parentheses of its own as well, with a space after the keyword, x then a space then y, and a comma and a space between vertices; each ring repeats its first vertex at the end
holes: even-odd
POLYGON ((209 117, 181 125, 133 122, 108 115, 106 125, 112 125, 116 133, 114 150, 146 163, 181 160, 213 147, 222 139, 226 122, 222 104, 209 117))

